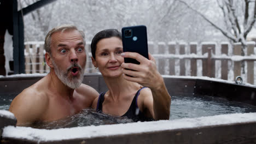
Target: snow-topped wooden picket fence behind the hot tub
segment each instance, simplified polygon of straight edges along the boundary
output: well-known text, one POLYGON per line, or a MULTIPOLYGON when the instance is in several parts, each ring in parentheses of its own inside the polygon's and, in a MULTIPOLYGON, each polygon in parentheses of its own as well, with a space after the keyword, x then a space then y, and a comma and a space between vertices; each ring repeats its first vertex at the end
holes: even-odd
MULTIPOLYGON (((25 71, 30 73, 48 73, 49 67, 45 64, 43 42, 25 43, 25 71)), ((241 63, 246 63, 247 78, 245 81, 254 84, 254 55, 253 41, 247 43, 246 56, 241 56, 242 45, 236 43, 175 43, 163 42, 154 44, 148 43, 148 49, 156 59, 158 70, 162 75, 189 75, 208 76, 228 80, 228 75, 232 74, 231 80, 241 75, 241 63), (220 49, 220 54, 216 54, 216 49, 220 49), (231 53, 229 52, 231 51, 231 53), (220 74, 218 73, 218 69, 220 74), (231 72, 231 73, 230 73, 231 72)), ((85 73, 98 73, 91 63, 90 43, 86 44, 86 68, 85 73)), ((230 79, 229 79, 230 80, 230 79)))

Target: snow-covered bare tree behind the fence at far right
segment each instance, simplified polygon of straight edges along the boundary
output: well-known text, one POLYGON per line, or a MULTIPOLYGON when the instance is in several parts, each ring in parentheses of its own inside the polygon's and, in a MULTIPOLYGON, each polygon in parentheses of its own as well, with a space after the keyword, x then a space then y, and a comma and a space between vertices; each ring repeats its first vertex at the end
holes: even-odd
MULTIPOLYGON (((224 25, 220 25, 219 21, 213 21, 206 14, 197 10, 190 3, 183 0, 176 0, 185 4, 189 9, 195 11, 203 19, 209 22, 214 28, 218 29, 232 43, 240 42, 243 46, 242 55, 245 55, 246 38, 252 30, 256 19, 256 2, 252 0, 216 0, 218 10, 222 16, 224 25)), ((214 19, 214 18, 213 18, 214 19)))

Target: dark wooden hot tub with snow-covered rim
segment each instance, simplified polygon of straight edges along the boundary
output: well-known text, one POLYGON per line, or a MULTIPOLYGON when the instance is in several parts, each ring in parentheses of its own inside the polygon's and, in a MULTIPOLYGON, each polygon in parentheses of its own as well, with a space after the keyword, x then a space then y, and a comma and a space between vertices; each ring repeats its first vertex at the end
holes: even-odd
MULTIPOLYGON (((18 94, 43 76, 2 77, 0 92, 5 95, 18 94)), ((251 106, 256 105, 256 88, 253 86, 237 85, 207 77, 164 76, 164 79, 170 95, 181 97, 208 95, 251 106)), ((98 92, 107 90, 101 75, 86 75, 83 83, 94 87, 98 92)), ((3 128, 2 143, 256 142, 256 113, 254 112, 53 130, 15 127, 15 117, 8 111, 1 110, 0 117, 3 128)))

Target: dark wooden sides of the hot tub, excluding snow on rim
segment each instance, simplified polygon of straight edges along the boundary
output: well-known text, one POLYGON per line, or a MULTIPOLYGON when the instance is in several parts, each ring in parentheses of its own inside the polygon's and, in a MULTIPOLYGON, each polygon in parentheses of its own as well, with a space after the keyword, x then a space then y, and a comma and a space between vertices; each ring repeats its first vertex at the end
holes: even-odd
MULTIPOLYGON (((43 76, 0 78, 0 94, 5 93, 7 99, 10 99, 8 98, 8 94, 18 94, 24 88, 42 79, 42 77, 43 76), (16 83, 22 84, 17 85, 16 83)), ((200 95, 211 95, 213 97, 222 97, 256 105, 255 87, 202 79, 164 77, 164 80, 168 92, 171 95, 191 97, 193 97, 193 95, 197 95, 198 97, 200 97, 200 95)), ((83 83, 94 87, 98 92, 107 90, 101 75, 86 75, 83 83)), ((16 121, 15 119, 10 119, 7 123, 7 119, 0 116, 0 123, 2 123, 2 125, 0 124, 1 130, 7 124, 15 125, 14 123, 16 123, 16 121)), ((195 123, 197 123, 196 120, 195 123)), ((0 143, 255 143, 255 127, 256 121, 249 121, 232 124, 203 125, 194 128, 187 127, 147 131, 135 134, 119 134, 92 138, 80 137, 55 141, 26 140, 3 136, 0 143)), ((122 125, 120 125, 120 128, 122 128, 122 125)))

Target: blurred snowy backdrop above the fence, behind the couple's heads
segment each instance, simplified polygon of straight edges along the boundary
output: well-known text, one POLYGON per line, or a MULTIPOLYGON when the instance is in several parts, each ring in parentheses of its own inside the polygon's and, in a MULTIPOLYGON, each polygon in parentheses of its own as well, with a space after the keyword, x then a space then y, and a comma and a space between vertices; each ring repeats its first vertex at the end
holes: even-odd
MULTIPOLYGON (((18 1, 19 2, 19 1, 18 1)), ((22 0, 20 8, 36 2, 22 0)), ((216 1, 190 1, 211 20, 224 26, 216 1)), ((146 25, 148 40, 154 41, 226 41, 222 33, 178 1, 165 0, 61 0, 24 16, 25 41, 43 41, 53 27, 72 23, 86 34, 86 40, 102 29, 146 25)))

